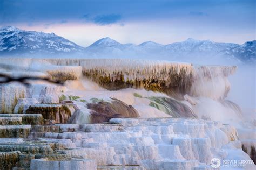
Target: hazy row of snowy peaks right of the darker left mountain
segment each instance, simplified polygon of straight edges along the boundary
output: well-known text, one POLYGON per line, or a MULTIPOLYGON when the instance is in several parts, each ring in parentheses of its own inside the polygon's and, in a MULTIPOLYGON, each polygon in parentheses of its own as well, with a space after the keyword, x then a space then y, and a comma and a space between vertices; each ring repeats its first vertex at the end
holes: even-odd
POLYGON ((146 58, 209 64, 221 62, 236 64, 256 61, 255 42, 254 40, 239 45, 188 38, 185 41, 167 45, 153 41, 135 45, 120 44, 116 40, 106 37, 96 41, 85 51, 99 58, 146 58))

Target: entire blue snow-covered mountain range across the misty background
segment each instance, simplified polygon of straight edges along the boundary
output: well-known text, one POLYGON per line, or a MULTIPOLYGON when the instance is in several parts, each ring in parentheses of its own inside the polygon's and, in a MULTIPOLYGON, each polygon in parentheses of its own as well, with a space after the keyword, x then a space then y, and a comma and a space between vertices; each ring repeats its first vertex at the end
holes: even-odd
POLYGON ((242 45, 188 38, 172 44, 153 41, 142 44, 121 44, 109 37, 88 47, 79 46, 55 33, 25 31, 14 26, 0 29, 0 56, 135 58, 189 61, 198 63, 248 63, 256 61, 256 41, 242 45))

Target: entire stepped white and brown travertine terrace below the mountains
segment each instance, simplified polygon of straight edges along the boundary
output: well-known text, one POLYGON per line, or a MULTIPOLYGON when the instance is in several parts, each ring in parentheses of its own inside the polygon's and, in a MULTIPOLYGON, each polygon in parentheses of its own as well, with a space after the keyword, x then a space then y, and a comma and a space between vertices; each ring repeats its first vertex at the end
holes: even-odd
POLYGON ((235 66, 1 58, 0 67, 63 83, 0 85, 0 169, 211 169, 212 158, 253 159, 255 138, 223 122, 242 119, 226 100, 235 66))

